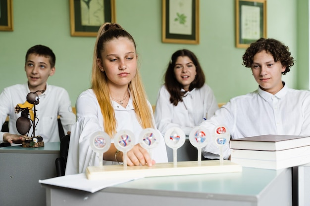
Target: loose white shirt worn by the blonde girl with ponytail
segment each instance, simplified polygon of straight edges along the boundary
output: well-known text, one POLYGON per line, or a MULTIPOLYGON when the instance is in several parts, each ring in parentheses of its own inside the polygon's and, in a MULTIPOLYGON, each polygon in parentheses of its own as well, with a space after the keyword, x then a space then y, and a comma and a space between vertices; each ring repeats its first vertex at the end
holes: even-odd
MULTIPOLYGON (((143 130, 139 124, 133 107, 132 98, 126 108, 115 101, 111 101, 117 121, 116 131, 130 130, 139 142, 139 134, 143 130)), ((150 105, 150 110, 152 106, 150 105)), ((103 115, 96 95, 92 89, 80 94, 76 102, 77 122, 72 126, 68 160, 65 174, 84 173, 88 166, 99 165, 99 155, 92 151, 89 143, 90 136, 97 131, 104 131, 103 115)), ((153 114, 153 113, 152 113, 153 114)), ((159 133, 159 132, 158 132, 159 133)), ((163 137, 160 144, 151 151, 152 159, 156 163, 168 162, 167 151, 163 137)), ((113 142, 113 138, 111 139, 113 142)), ((116 162, 104 161, 103 165, 113 165, 116 162)))

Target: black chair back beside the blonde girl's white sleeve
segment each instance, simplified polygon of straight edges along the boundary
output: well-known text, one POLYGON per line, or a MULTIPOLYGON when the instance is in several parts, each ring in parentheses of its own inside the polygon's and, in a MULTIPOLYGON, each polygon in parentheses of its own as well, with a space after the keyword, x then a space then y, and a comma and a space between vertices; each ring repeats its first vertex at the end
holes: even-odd
POLYGON ((57 177, 64 176, 68 158, 69 143, 70 143, 70 134, 64 135, 60 139, 60 157, 56 158, 55 160, 57 177))

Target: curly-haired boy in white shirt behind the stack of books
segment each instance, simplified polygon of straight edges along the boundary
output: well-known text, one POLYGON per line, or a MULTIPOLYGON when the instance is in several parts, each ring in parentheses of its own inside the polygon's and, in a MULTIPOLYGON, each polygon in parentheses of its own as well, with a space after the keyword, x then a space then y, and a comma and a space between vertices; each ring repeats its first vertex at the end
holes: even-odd
MULTIPOLYGON (((243 55, 243 65, 251 68, 258 89, 232 98, 201 125, 213 131, 225 125, 232 139, 266 134, 310 135, 310 91, 288 88, 282 75, 294 65, 288 47, 274 39, 259 39, 243 55)), ((219 149, 210 142, 203 153, 218 159, 219 149)), ((229 145, 223 148, 230 156, 229 145)))

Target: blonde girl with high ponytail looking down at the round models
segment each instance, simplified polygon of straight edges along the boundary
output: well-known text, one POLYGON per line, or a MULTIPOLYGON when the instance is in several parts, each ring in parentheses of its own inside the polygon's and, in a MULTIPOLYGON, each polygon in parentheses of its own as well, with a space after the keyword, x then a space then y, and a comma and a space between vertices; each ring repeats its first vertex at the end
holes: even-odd
MULTIPOLYGON (((89 146, 95 131, 113 135, 130 130, 136 144, 127 153, 127 165, 167 162, 164 140, 152 150, 152 157, 138 144, 144 128, 155 128, 152 106, 137 70, 136 44, 132 36, 116 23, 101 26, 93 57, 92 87, 80 94, 76 102, 77 122, 72 126, 66 174, 85 172, 98 165, 99 157, 89 146)), ((103 165, 123 162, 122 152, 113 144, 103 154, 103 165)))

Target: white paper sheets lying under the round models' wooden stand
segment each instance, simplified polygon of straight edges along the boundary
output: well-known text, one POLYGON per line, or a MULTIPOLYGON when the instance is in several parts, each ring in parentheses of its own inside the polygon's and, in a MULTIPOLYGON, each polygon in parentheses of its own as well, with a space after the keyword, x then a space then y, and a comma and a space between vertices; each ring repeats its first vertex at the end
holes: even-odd
POLYGON ((103 188, 125 183, 139 178, 119 178, 117 180, 89 180, 85 173, 65 175, 61 177, 54 177, 51 179, 39 180, 41 184, 54 185, 59 187, 66 187, 77 190, 84 190, 87 192, 97 192, 103 188))

